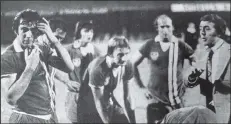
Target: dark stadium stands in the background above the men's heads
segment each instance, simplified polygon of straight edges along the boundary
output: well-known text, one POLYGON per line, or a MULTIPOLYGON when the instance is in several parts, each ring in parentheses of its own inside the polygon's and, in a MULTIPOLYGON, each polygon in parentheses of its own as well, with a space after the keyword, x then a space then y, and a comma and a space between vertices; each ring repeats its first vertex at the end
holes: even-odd
MULTIPOLYGON (((230 29, 230 12, 172 12, 172 3, 196 3, 195 1, 2 1, 1 2, 1 44, 9 44, 15 38, 11 29, 15 14, 23 9, 34 9, 49 19, 59 17, 66 21, 68 36, 71 39, 75 23, 78 20, 93 20, 95 37, 102 39, 105 33, 126 35, 129 39, 153 36, 153 20, 160 14, 168 14, 175 25, 175 34, 187 28, 188 22, 199 24, 200 17, 208 13, 217 13, 227 21, 230 29), (65 9, 106 9, 106 12, 63 14, 65 9), (49 14, 46 14, 49 13, 49 14), (127 33, 126 33, 127 32, 127 33)), ((203 1, 202 3, 209 3, 203 1)), ((229 3, 229 2, 226 2, 229 3)), ((229 3, 230 4, 230 3, 229 3)), ((94 12, 94 11, 93 11, 94 12)), ((67 40, 67 43, 71 40, 67 40)))

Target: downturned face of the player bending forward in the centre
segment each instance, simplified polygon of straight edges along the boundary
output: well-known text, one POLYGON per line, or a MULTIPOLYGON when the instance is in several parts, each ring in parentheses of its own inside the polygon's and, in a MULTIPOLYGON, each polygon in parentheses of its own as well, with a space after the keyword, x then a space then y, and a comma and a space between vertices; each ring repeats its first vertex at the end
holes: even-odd
POLYGON ((114 63, 117 65, 123 64, 127 61, 127 55, 129 54, 130 49, 127 47, 115 48, 113 52, 114 63))

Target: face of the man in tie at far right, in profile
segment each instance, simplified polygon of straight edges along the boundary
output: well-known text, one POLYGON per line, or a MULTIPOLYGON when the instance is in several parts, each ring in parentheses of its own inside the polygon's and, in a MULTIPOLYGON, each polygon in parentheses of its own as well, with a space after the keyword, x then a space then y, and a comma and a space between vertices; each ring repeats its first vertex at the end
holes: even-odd
POLYGON ((204 45, 210 46, 214 44, 215 38, 217 37, 215 24, 209 21, 201 21, 200 23, 200 37, 204 45))

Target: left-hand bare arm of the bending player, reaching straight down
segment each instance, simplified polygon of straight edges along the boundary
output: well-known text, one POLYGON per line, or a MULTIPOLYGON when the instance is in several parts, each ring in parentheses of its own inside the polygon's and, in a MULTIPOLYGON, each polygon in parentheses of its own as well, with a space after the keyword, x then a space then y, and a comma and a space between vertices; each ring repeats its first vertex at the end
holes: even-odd
POLYGON ((98 111, 103 122, 109 123, 109 112, 106 109, 106 104, 105 104, 104 95, 103 95, 104 86, 102 87, 90 86, 90 87, 91 87, 91 90, 94 96, 96 110, 98 111))

